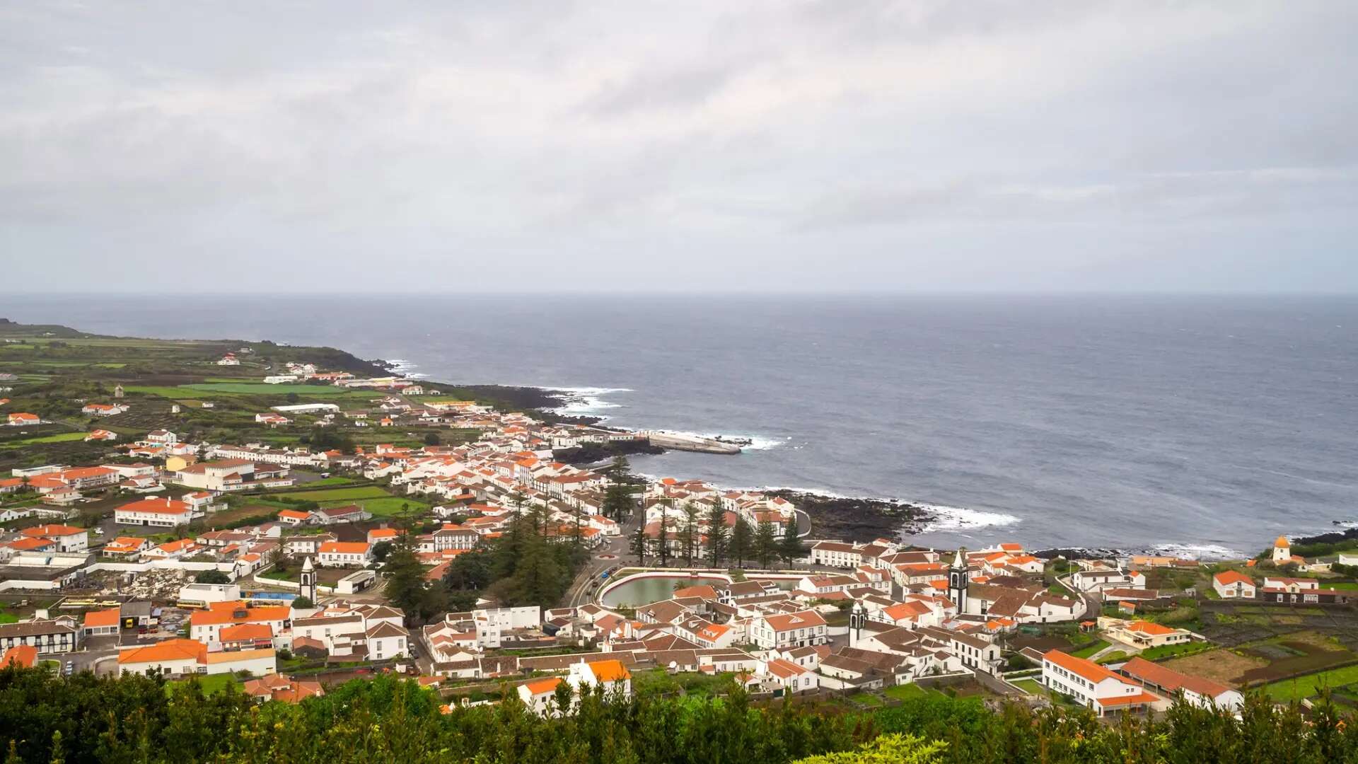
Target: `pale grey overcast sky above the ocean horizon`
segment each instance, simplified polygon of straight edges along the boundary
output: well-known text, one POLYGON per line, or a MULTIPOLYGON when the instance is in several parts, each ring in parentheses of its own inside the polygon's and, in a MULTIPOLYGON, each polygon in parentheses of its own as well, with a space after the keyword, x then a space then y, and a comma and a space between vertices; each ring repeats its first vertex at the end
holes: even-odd
POLYGON ((0 280, 1358 292, 1358 3, 0 4, 0 280))

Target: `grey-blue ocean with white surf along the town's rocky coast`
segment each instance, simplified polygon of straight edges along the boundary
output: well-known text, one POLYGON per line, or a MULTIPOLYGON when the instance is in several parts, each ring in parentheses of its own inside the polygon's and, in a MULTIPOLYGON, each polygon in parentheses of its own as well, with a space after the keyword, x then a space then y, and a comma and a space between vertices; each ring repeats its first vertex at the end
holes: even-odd
POLYGON ((641 472, 947 507, 922 542, 1244 552, 1358 518, 1351 298, 73 296, 0 315, 584 389, 573 408, 612 424, 760 446, 641 472))

